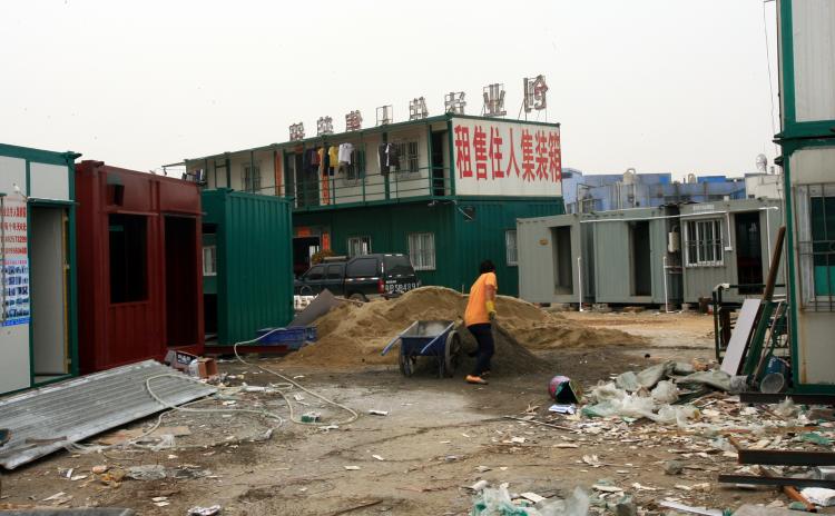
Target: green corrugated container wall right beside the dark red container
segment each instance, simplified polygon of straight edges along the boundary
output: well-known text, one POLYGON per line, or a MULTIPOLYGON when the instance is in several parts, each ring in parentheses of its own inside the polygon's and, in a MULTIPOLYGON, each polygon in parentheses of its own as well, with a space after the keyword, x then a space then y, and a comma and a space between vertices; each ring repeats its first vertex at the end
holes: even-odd
MULTIPOLYGON (((217 341, 230 345, 293 318, 291 202, 205 190, 204 224, 217 226, 217 341)), ((212 280, 209 280, 212 282, 212 280)), ((204 281, 204 286, 206 281, 204 281)))

